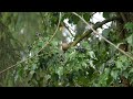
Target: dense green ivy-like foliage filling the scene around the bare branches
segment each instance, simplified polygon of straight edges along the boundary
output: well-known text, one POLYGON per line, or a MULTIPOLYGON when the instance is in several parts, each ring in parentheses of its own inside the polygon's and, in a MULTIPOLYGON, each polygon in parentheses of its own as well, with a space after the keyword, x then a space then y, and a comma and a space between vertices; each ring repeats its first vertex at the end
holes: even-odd
MULTIPOLYGON (((93 16, 91 12, 79 12, 78 14, 88 22, 93 16)), ((105 20, 113 15, 116 14, 103 12, 105 20)), ((66 18, 70 19, 70 23, 78 24, 80 21, 74 14, 62 12, 61 22, 66 18)), ((130 82, 130 86, 133 85, 132 59, 93 33, 88 40, 82 40, 80 46, 72 46, 63 52, 60 48, 62 31, 58 30, 53 40, 42 48, 53 36, 59 22, 59 12, 3 12, 0 22, 10 31, 0 31, 0 40, 3 35, 9 36, 1 45, 7 42, 6 47, 10 46, 9 54, 14 56, 19 54, 23 61, 20 63, 17 58, 9 57, 10 62, 13 59, 13 64, 17 63, 17 67, 8 70, 1 86, 123 87, 125 81, 123 82, 122 76, 130 82), (12 40, 12 43, 9 40, 12 40), (17 54, 11 50, 12 47, 18 47, 17 54)), ((126 53, 131 55, 133 53, 132 25, 132 22, 124 24, 129 35, 123 38, 129 43, 130 50, 126 53)), ((114 25, 103 29, 102 35, 114 44, 120 41, 117 29, 114 25)), ((0 52, 4 50, 0 48, 0 52)), ((2 56, 6 55, 4 53, 2 56)), ((2 67, 4 66, 2 65, 2 67)))

